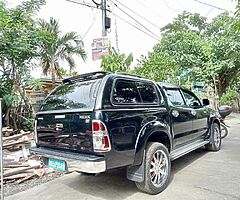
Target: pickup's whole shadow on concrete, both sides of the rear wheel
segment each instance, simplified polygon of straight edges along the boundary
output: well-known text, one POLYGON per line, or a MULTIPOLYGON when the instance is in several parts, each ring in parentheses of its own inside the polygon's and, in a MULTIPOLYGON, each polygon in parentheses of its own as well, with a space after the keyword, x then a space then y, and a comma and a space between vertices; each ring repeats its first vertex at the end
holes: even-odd
MULTIPOLYGON (((173 161, 170 184, 174 180, 174 175, 176 173, 183 170, 206 153, 205 149, 198 149, 173 161)), ((74 180, 65 182, 65 184, 78 193, 92 195, 93 198, 100 197, 109 200, 126 199, 140 192, 134 182, 127 180, 126 170, 124 168, 110 170, 106 173, 98 174, 97 176, 79 173, 74 180)))

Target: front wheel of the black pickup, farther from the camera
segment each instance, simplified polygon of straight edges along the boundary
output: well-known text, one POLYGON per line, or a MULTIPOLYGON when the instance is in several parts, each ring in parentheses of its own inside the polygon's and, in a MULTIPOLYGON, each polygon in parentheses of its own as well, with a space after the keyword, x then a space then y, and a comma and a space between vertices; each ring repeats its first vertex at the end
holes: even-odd
POLYGON ((211 127, 211 139, 209 144, 206 144, 205 147, 209 151, 219 151, 221 149, 221 131, 217 123, 213 123, 211 127))

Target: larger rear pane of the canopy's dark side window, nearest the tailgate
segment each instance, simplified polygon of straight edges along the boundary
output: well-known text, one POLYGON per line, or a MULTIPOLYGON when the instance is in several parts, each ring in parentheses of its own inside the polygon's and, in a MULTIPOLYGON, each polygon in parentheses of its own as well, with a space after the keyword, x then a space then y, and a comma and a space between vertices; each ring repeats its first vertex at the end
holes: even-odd
POLYGON ((117 80, 113 90, 114 103, 141 103, 137 86, 133 81, 117 80))

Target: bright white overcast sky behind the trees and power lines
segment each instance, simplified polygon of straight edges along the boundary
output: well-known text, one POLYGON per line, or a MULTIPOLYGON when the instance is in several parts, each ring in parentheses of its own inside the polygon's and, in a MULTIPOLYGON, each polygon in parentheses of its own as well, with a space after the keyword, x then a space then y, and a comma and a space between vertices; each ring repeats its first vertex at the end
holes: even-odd
MULTIPOLYGON (((6 1, 9 6, 13 7, 22 0, 6 1)), ((94 5, 91 0, 73 1, 94 5)), ((95 1, 101 2, 101 0, 95 1)), ((209 20, 224 12, 224 10, 199 3, 199 1, 230 12, 234 12, 236 5, 234 0, 107 0, 107 7, 111 10, 111 13, 107 13, 111 18, 111 28, 108 30, 107 37, 113 47, 118 47, 120 53, 126 55, 133 53, 133 65, 136 65, 137 59, 152 51, 153 46, 161 38, 160 28, 170 23, 184 10, 200 13, 209 20), (146 29, 137 24, 136 21, 140 22, 146 29), (145 33, 128 23, 138 28, 141 27, 145 33), (149 34, 155 36, 151 37, 149 34)), ((41 8, 38 17, 46 20, 53 17, 59 21, 63 33, 75 31, 82 37, 87 52, 87 60, 83 62, 79 57, 75 57, 76 71, 79 74, 100 70, 101 61, 92 61, 91 44, 93 39, 102 36, 101 10, 67 0, 46 0, 46 5, 41 8)), ((66 63, 62 63, 62 66, 68 69, 66 63)), ((42 76, 39 68, 32 74, 35 77, 42 76)))

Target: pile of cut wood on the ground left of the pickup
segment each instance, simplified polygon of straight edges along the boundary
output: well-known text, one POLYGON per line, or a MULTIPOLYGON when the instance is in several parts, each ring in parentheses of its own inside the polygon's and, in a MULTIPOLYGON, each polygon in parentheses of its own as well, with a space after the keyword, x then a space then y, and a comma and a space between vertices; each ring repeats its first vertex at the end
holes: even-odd
POLYGON ((22 183, 33 177, 42 177, 51 171, 43 166, 40 156, 30 155, 29 148, 35 145, 32 132, 7 127, 4 127, 2 132, 5 183, 22 183))

